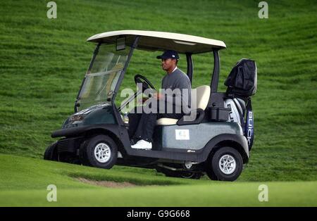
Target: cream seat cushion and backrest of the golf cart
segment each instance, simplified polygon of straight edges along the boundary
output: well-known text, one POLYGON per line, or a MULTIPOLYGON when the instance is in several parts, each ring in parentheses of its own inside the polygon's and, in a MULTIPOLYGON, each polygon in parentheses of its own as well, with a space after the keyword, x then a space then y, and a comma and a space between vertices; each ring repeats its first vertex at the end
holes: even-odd
MULTIPOLYGON (((206 109, 209 101, 210 91, 211 89, 207 85, 197 87, 196 92, 194 92, 194 89, 192 89, 192 103, 196 102, 197 109, 206 109), (196 94, 197 96, 194 96, 194 94, 196 94)), ((156 125, 176 125, 177 122, 178 119, 174 118, 160 118, 159 120, 156 120, 156 125)))

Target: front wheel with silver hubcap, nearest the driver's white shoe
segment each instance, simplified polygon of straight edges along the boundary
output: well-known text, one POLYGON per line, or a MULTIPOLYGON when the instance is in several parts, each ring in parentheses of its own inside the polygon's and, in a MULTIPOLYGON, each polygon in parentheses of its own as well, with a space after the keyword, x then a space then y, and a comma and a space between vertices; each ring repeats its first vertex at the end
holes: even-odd
POLYGON ((118 146, 113 139, 103 134, 90 137, 80 146, 80 160, 83 165, 111 169, 113 165, 116 164, 117 158, 118 146), (104 144, 106 144, 106 146, 104 146, 104 144), (106 156, 104 153, 95 154, 95 149, 106 149, 108 157, 103 157, 106 156), (97 156, 100 156, 101 158, 98 159, 97 156), (105 161, 103 162, 103 160, 105 161))

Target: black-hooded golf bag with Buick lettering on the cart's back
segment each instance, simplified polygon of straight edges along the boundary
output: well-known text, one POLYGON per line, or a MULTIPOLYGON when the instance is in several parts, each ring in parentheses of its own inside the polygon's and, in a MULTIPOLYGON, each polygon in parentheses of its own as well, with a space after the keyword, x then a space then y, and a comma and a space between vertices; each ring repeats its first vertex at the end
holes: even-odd
POLYGON ((255 61, 241 59, 232 68, 225 86, 228 87, 225 106, 231 108, 229 121, 240 122, 247 138, 249 150, 254 141, 254 114, 251 105, 251 96, 256 93, 257 69, 255 61))

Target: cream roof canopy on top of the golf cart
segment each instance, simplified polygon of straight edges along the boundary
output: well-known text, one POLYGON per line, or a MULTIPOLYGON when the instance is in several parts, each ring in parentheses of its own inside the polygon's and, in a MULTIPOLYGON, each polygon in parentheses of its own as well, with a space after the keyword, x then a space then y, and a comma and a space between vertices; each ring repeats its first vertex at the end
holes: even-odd
POLYGON ((213 49, 225 49, 224 42, 205 37, 139 30, 121 30, 95 34, 89 37, 87 42, 113 44, 116 43, 119 37, 125 37, 125 44, 131 46, 136 36, 140 36, 137 49, 149 51, 175 50, 178 53, 204 53, 213 51, 213 49))

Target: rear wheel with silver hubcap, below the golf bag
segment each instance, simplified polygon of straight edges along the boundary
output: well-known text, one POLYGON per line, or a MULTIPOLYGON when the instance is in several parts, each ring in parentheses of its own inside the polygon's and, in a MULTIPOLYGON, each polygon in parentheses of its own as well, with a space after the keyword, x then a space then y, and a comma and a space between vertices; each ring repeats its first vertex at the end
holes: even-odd
POLYGON ((221 147, 216 153, 211 154, 206 161, 206 173, 213 180, 235 181, 240 176, 242 168, 243 161, 241 154, 230 146, 221 147), (222 163, 225 163, 225 160, 232 158, 235 160, 235 168, 233 167, 234 163, 231 163, 229 164, 231 166, 229 170, 221 170, 219 165, 220 160, 222 163))

